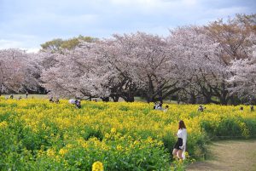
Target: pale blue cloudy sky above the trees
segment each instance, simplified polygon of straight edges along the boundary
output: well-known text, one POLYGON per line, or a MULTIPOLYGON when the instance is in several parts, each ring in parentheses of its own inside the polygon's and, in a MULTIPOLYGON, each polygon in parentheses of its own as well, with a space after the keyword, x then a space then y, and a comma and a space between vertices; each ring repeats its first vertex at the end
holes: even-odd
POLYGON ((54 38, 145 31, 167 36, 177 26, 207 25, 255 14, 256 0, 0 0, 0 49, 36 52, 54 38))

